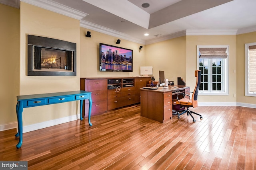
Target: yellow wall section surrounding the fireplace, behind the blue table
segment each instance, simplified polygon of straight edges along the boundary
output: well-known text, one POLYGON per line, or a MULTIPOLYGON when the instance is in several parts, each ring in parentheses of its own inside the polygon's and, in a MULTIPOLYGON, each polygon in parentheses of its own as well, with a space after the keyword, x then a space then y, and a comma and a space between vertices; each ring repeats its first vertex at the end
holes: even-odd
MULTIPOLYGON (((80 90, 80 21, 24 2, 20 3, 20 95, 80 90), (76 43, 77 76, 27 76, 27 35, 76 43)), ((23 125, 79 113, 79 102, 30 107, 23 111, 23 125)))

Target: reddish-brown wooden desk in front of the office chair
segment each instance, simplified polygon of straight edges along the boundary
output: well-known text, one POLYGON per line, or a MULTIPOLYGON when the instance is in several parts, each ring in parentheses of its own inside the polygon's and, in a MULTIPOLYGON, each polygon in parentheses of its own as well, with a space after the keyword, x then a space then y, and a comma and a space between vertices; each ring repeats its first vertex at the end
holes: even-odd
POLYGON ((174 85, 157 90, 140 89, 140 115, 164 123, 172 118, 172 96, 189 91, 190 86, 174 85), (174 88, 174 87, 177 88, 174 88))

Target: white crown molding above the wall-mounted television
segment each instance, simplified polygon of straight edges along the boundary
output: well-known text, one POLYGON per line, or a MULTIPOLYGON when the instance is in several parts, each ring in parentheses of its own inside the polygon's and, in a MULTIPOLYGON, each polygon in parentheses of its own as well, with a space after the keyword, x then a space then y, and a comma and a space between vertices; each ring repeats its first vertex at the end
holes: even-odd
POLYGON ((135 43, 145 45, 145 41, 142 40, 142 39, 131 37, 130 35, 115 31, 113 29, 102 27, 100 25, 97 25, 95 23, 91 23, 91 22, 88 22, 88 21, 81 20, 80 21, 80 27, 91 29, 93 31, 97 31, 97 32, 100 32, 100 33, 111 35, 113 37, 118 37, 118 38, 126 39, 128 41, 132 41, 132 42, 135 42, 135 43))

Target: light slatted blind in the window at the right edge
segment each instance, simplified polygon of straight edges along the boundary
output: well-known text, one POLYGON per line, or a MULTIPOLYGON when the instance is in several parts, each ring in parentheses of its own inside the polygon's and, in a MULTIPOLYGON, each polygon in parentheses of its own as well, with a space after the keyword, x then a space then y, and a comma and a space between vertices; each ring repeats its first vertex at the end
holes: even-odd
POLYGON ((249 46, 249 91, 256 92, 256 45, 249 46))

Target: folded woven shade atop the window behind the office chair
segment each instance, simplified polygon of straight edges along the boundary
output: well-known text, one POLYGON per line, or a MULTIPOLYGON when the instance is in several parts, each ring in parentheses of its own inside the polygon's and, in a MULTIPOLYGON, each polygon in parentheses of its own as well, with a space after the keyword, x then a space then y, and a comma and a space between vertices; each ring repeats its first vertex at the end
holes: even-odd
POLYGON ((227 48, 199 48, 200 59, 226 59, 227 48))

